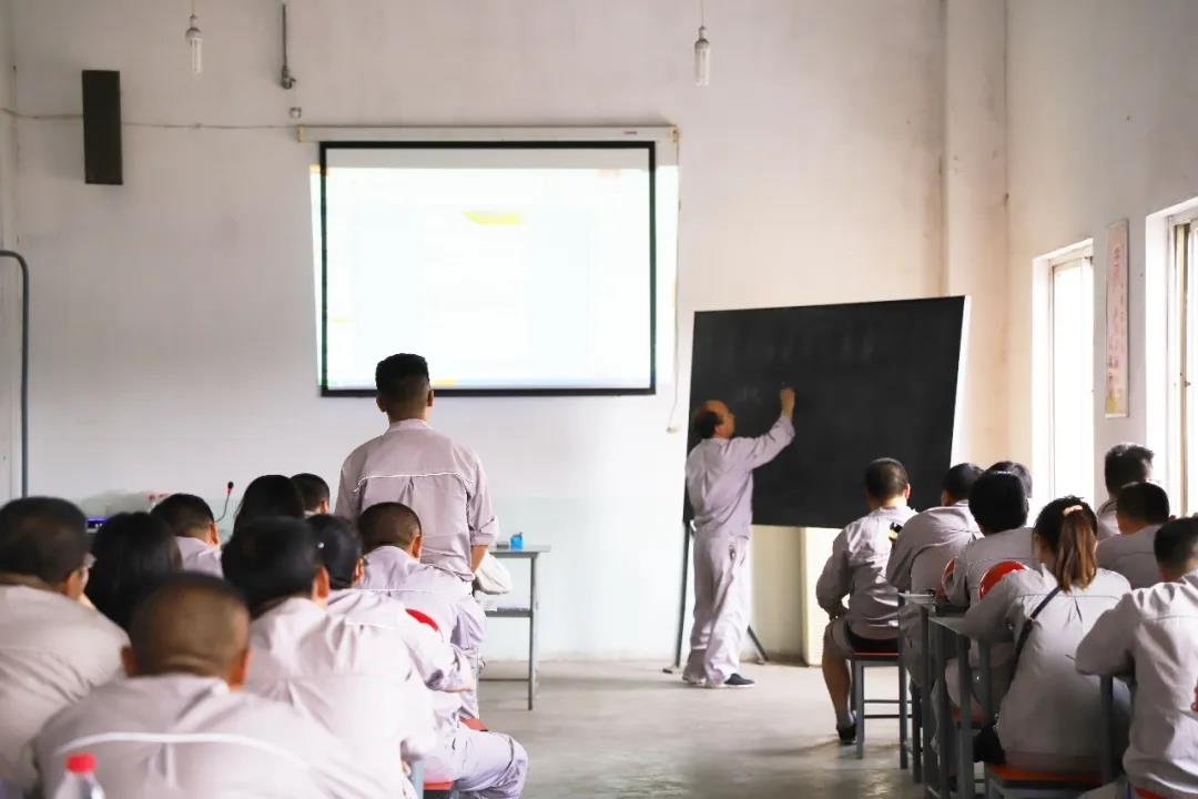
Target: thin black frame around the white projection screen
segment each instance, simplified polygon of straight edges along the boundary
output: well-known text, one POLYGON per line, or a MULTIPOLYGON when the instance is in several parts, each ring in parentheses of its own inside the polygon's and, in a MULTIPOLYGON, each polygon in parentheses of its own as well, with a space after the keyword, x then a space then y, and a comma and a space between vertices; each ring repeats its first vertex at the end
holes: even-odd
POLYGON ((645 150, 649 170, 649 385, 611 388, 436 388, 438 397, 651 397, 658 393, 658 222, 657 141, 654 140, 453 140, 453 141, 340 141, 320 145, 320 369, 321 397, 375 397, 374 388, 328 387, 328 205, 327 176, 329 150, 645 150))

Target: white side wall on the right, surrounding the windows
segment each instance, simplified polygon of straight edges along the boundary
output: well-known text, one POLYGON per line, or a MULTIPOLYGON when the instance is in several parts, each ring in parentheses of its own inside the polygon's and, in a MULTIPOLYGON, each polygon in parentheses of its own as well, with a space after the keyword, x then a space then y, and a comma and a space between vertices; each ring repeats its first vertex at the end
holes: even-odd
MULTIPOLYGON (((1198 4, 1011 0, 1009 18, 1011 447, 1031 455, 1031 260, 1094 237, 1095 467, 1144 441, 1146 216, 1198 195, 1198 4), (1131 416, 1106 419, 1106 230, 1131 220, 1131 416)), ((1105 498, 1105 496, 1102 496, 1105 498)))

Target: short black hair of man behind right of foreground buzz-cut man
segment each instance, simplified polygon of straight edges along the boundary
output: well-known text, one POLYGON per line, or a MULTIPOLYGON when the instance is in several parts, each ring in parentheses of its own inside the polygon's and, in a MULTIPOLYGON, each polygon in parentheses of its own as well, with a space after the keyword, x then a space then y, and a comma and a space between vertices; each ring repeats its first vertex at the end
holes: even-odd
POLYGON ((241 591, 254 616, 277 600, 309 595, 322 565, 311 527, 285 516, 247 521, 220 553, 225 580, 241 591))

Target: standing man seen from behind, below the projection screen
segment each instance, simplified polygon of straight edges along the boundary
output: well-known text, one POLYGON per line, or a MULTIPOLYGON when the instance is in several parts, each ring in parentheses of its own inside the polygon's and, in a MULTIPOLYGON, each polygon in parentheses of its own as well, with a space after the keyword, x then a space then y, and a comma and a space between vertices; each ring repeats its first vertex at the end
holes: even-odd
POLYGON ((391 426, 345 460, 337 515, 357 521, 373 504, 400 502, 423 522, 420 559, 472 582, 500 531, 483 464, 429 426, 432 388, 424 358, 393 355, 380 361, 375 387, 391 426))

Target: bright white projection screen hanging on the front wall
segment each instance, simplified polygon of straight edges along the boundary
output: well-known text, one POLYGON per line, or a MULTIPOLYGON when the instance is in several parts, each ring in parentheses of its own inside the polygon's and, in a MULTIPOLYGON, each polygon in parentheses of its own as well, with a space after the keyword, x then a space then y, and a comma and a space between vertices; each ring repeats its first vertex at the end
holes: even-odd
POLYGON ((321 392, 653 393, 654 146, 321 143, 321 392))

